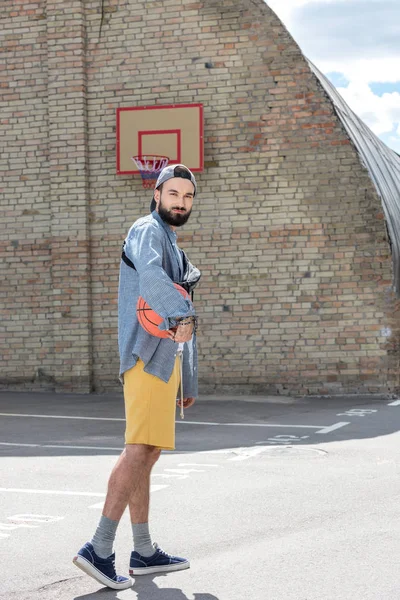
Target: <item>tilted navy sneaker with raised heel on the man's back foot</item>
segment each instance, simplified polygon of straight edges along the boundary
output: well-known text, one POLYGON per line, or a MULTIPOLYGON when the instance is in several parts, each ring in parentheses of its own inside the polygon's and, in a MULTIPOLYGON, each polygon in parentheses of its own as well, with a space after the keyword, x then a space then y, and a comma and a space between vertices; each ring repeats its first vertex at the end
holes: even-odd
POLYGON ((74 557, 73 561, 86 575, 93 577, 99 583, 113 590, 126 590, 132 587, 130 577, 122 577, 115 572, 115 553, 108 558, 100 558, 95 553, 92 544, 87 542, 74 557))

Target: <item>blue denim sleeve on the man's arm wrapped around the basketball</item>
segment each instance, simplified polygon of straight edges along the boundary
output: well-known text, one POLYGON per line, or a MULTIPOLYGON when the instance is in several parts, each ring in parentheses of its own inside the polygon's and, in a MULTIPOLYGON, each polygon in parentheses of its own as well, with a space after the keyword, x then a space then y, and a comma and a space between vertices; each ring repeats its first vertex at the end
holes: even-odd
POLYGON ((162 267, 163 249, 156 226, 146 223, 133 228, 126 239, 125 254, 139 275, 140 295, 164 319, 160 330, 174 327, 176 318, 195 315, 191 301, 183 298, 162 267))

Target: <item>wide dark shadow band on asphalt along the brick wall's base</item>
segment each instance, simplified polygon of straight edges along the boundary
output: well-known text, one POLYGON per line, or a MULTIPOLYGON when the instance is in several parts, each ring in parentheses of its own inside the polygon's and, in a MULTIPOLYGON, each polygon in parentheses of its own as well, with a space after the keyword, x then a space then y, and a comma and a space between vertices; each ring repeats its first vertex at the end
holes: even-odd
MULTIPOLYGON (((186 411, 183 422, 177 417, 176 452, 274 445, 274 439, 280 439, 279 445, 285 442, 284 435, 288 444, 293 436, 296 446, 390 435, 400 428, 400 406, 388 406, 392 400, 384 396, 200 399, 186 411), (343 422, 347 425, 319 434, 320 429, 343 422)), ((123 438, 122 395, 0 393, 0 456, 118 455, 123 438)))

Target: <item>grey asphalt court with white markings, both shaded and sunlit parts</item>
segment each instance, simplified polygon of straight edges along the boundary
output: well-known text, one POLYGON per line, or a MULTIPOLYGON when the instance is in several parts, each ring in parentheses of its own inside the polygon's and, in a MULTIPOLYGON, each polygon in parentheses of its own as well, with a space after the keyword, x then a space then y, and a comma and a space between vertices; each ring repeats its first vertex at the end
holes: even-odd
MULTIPOLYGON (((1 600, 395 600, 400 401, 208 397, 152 477, 187 571, 102 588, 72 564, 123 446, 120 395, 0 394, 1 600)), ((128 570, 124 515, 117 567, 128 570)))

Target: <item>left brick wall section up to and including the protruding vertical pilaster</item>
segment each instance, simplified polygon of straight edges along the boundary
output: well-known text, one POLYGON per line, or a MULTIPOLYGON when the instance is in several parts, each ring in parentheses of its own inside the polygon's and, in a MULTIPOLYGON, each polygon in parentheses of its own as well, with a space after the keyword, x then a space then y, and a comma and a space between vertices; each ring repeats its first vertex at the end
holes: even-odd
POLYGON ((3 386, 89 391, 85 16, 6 3, 3 386))

